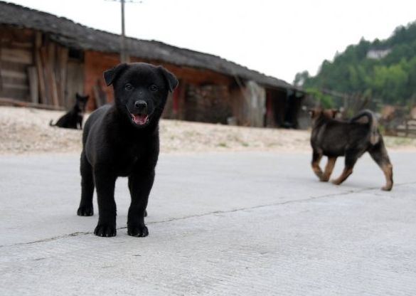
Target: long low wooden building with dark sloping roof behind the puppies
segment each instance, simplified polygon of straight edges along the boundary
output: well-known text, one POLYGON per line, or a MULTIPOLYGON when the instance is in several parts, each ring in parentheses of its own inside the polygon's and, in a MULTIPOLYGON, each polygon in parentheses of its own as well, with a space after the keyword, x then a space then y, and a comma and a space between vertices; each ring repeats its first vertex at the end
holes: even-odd
MULTIPOLYGON (((119 35, 0 1, 0 102, 88 110, 113 100, 102 73, 119 63, 119 35)), ((304 97, 293 85, 207 53, 127 38, 132 62, 164 65, 179 87, 164 117, 252 127, 297 127, 304 97)), ((278 65, 277 65, 278 66, 278 65)))

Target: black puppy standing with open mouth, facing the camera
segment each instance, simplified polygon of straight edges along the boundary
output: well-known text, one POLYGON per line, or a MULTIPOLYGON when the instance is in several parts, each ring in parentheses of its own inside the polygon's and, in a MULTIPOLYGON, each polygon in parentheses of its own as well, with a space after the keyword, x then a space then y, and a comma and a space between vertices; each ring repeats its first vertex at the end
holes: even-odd
POLYGON ((92 112, 85 122, 81 153, 79 216, 92 216, 92 194, 97 189, 97 236, 116 235, 114 184, 129 177, 132 203, 127 219, 129 236, 147 236, 144 216, 159 156, 159 119, 176 77, 161 66, 122 63, 105 71, 113 85, 114 105, 92 112))

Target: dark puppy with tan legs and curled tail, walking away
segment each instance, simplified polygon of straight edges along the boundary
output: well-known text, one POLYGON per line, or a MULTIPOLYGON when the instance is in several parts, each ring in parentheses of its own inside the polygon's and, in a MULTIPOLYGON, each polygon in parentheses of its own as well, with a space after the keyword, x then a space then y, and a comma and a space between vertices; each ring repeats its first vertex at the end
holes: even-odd
POLYGON ((309 112, 312 117, 312 169, 321 181, 329 180, 336 158, 345 156, 345 168, 341 176, 332 181, 336 185, 341 184, 353 173, 358 158, 368 152, 385 174, 386 184, 382 189, 392 189, 393 166, 373 112, 363 110, 348 121, 335 119, 338 110, 314 109, 309 112), (323 155, 328 157, 324 172, 319 167, 323 155))

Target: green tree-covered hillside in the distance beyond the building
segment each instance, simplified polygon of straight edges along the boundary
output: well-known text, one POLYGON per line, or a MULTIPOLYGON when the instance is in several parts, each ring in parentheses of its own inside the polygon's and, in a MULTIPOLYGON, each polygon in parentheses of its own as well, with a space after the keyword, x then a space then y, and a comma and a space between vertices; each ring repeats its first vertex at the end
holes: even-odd
POLYGON ((294 84, 325 97, 327 105, 331 97, 322 95, 324 90, 360 93, 385 104, 416 103, 416 21, 399 26, 387 40, 361 39, 333 62, 324 60, 316 76, 297 73, 294 84))

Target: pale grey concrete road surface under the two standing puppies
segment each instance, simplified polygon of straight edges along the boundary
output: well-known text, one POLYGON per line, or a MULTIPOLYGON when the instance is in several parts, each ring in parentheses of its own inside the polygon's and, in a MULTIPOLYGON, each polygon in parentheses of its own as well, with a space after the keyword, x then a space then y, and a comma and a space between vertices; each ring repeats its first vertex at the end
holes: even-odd
POLYGON ((127 236, 119 179, 100 238, 76 216, 78 155, 0 157, 0 295, 414 296, 416 153, 391 158, 383 192, 369 157, 334 186, 309 154, 161 155, 149 237, 127 236))

